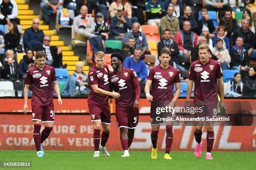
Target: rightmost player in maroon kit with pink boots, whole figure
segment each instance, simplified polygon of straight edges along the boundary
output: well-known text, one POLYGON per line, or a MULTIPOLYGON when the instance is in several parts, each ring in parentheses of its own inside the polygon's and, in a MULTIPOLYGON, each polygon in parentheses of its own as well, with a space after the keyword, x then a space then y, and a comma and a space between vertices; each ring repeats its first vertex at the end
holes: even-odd
MULTIPOLYGON (((199 59, 192 62, 187 83, 187 98, 185 107, 189 107, 189 99, 195 82, 194 107, 202 107, 202 111, 194 113, 195 117, 215 117, 218 112, 217 79, 220 90, 220 108, 224 107, 224 82, 220 63, 210 58, 210 48, 202 44, 198 48, 199 59)), ((202 154, 202 127, 203 121, 195 122, 195 157, 202 154)), ((205 159, 212 159, 211 151, 214 142, 213 122, 207 121, 207 153, 205 159)))

